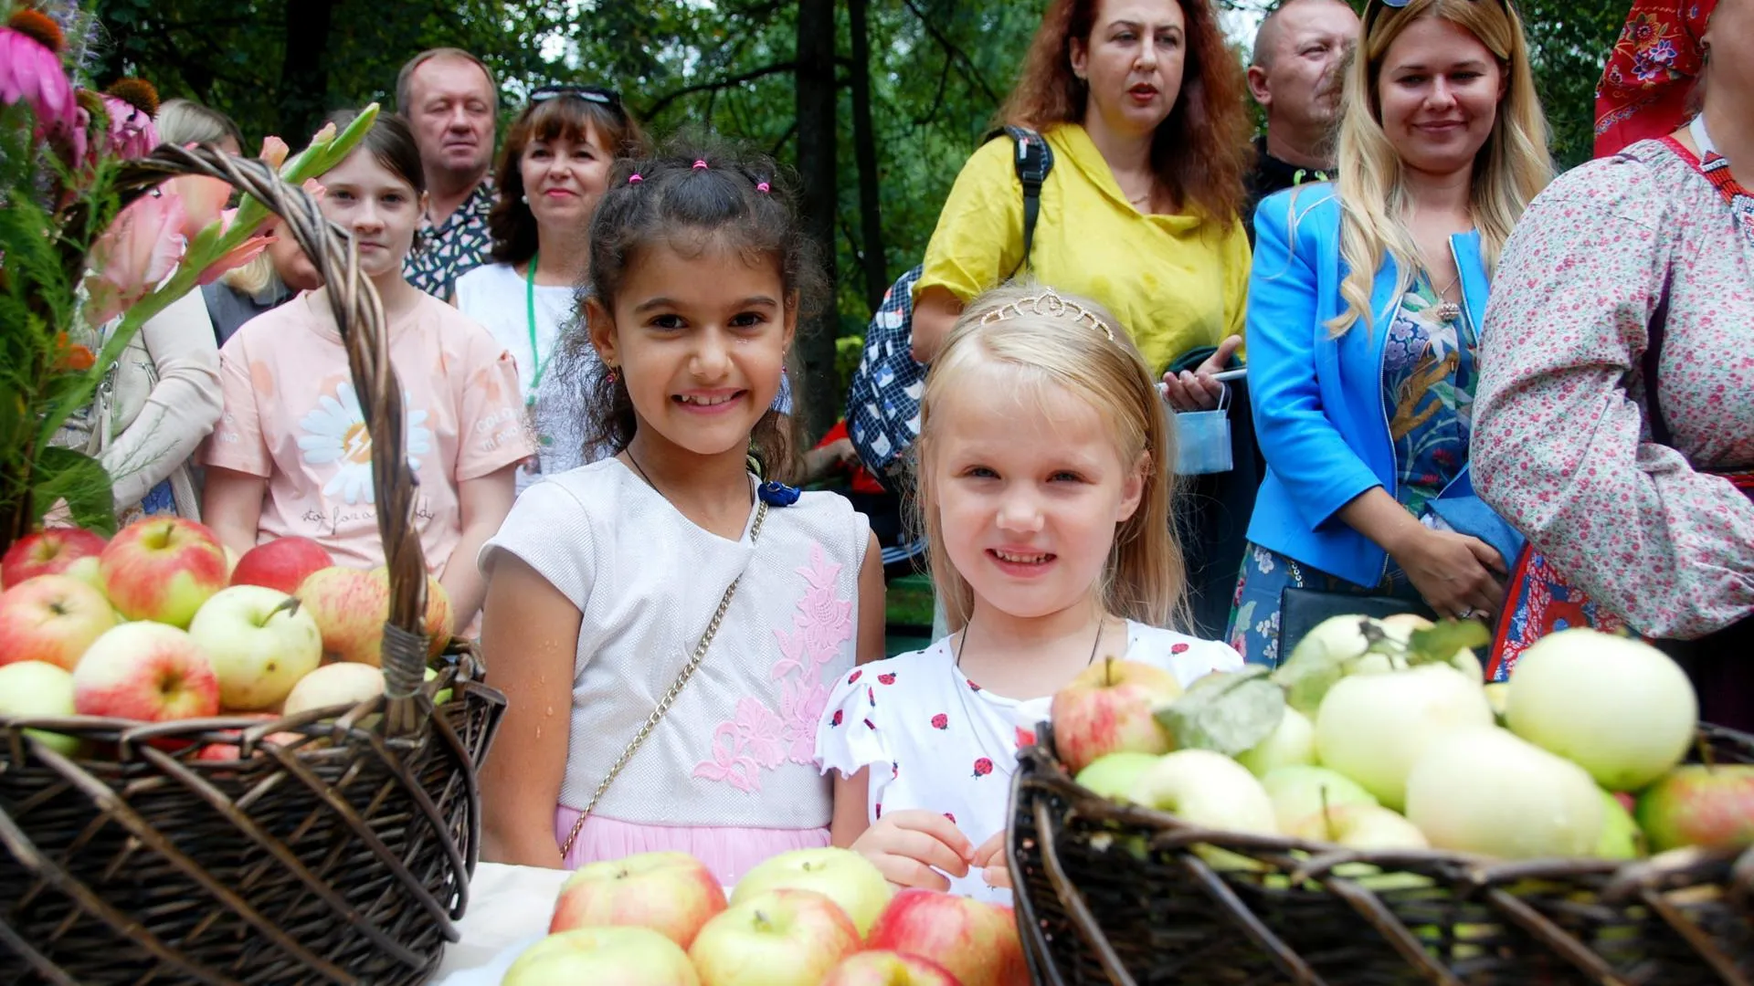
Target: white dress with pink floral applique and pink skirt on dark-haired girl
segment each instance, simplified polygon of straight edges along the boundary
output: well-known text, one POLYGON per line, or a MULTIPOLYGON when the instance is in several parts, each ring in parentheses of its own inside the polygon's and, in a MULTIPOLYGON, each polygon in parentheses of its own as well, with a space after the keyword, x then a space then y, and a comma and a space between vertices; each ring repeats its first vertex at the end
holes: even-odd
MULTIPOLYGON (((491 575, 510 553, 581 612, 558 842, 740 579, 705 660, 591 812, 568 867, 681 849, 730 886, 775 853, 828 844, 833 786, 816 768, 816 725, 852 668, 868 544, 866 519, 831 493, 770 507, 756 540, 747 526, 717 537, 614 458, 524 489, 481 567, 491 575)), ((517 658, 486 654, 489 667, 517 658)))

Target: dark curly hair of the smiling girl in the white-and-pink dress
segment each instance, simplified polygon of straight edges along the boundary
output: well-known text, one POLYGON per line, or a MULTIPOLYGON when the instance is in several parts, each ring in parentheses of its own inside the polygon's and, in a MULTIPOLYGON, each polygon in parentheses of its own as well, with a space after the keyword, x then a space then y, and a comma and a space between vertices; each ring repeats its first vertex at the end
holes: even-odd
MULTIPOLYGON (((781 275, 786 304, 798 325, 830 298, 821 256, 798 219, 791 182, 765 154, 700 137, 681 137, 652 158, 616 161, 609 191, 591 218, 591 282, 581 293, 614 312, 616 295, 640 251, 656 244, 714 242, 751 261, 766 260, 781 275), (705 161, 696 168, 695 161, 705 161), (631 181, 638 175, 638 181, 631 181)), ((619 375, 602 372, 589 333, 581 325, 561 344, 558 372, 584 418, 584 447, 619 453, 633 440, 633 398, 619 375)), ((798 374, 791 374, 796 382, 798 374)), ((793 389, 793 421, 802 395, 793 389)), ((751 433, 751 454, 770 479, 798 474, 793 421, 768 409, 751 433)))

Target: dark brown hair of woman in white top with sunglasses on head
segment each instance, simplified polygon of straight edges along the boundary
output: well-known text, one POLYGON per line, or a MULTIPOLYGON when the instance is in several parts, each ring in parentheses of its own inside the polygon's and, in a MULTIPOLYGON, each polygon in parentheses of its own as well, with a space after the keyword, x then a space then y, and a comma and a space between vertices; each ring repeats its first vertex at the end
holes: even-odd
MULTIPOLYGON (((596 132, 603 149, 612 158, 647 154, 645 132, 621 104, 605 105, 581 98, 558 96, 530 104, 512 128, 505 132, 500 151, 500 168, 495 175, 498 202, 488 212, 488 232, 493 235, 493 260, 523 263, 537 253, 537 218, 524 202, 524 172, 521 158, 531 140, 567 139, 582 142, 588 132, 596 132)), ((579 230, 586 235, 586 230, 579 230)))

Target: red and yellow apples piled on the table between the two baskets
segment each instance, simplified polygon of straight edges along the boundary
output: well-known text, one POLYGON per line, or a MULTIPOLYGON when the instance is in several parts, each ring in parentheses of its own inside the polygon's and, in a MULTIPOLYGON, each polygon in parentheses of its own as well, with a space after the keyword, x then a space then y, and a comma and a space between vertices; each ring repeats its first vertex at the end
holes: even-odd
POLYGON ((796 849, 749 870, 730 900, 686 853, 581 867, 549 935, 505 986, 1026 986, 1009 907, 895 893, 851 849, 796 849))

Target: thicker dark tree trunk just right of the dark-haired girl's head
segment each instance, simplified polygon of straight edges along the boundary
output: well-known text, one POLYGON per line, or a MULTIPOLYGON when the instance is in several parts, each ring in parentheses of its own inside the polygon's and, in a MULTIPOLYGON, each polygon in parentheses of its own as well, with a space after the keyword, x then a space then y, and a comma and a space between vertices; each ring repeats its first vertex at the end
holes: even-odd
MULTIPOLYGON (((803 184, 803 228, 823 253, 830 286, 835 279, 835 0, 798 2, 798 177, 803 184)), ((803 363, 800 412, 803 433, 816 442, 840 416, 844 395, 835 393, 833 298, 824 311, 798 326, 798 361, 803 363)))

